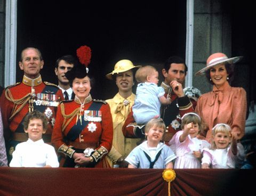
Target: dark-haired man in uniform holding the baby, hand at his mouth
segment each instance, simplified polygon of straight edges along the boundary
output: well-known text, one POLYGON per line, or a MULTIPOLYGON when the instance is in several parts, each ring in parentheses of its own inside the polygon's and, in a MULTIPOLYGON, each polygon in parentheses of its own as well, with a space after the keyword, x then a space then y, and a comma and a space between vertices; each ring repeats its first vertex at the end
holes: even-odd
MULTIPOLYGON (((164 88, 165 97, 170 97, 172 101, 171 104, 163 105, 161 108, 161 118, 164 120, 167 128, 163 137, 163 141, 166 143, 180 130, 181 117, 187 112, 194 111, 196 107, 195 100, 198 97, 195 96, 198 95, 193 97, 186 96, 186 92, 182 88, 187 70, 185 61, 178 56, 171 56, 167 59, 162 70, 164 81, 161 86, 164 88)), ((145 137, 143 125, 134 123, 132 111, 124 123, 123 134, 125 137, 130 138, 145 137)))

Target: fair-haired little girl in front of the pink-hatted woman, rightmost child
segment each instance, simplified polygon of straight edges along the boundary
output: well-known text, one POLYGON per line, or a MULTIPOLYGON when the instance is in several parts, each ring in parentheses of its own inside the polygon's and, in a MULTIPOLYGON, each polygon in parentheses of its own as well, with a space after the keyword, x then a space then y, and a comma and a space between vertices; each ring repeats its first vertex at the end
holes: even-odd
POLYGON ((237 133, 227 124, 217 124, 212 129, 212 147, 203 149, 202 168, 235 168, 244 159, 244 148, 237 143, 237 133))

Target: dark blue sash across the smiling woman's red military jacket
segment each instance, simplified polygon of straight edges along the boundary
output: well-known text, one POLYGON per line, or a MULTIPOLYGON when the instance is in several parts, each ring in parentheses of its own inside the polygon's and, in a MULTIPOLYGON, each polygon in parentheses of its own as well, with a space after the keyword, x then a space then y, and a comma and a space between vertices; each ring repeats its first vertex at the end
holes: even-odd
MULTIPOLYGON (((103 103, 100 102, 92 102, 90 107, 87 110, 99 110, 101 108, 101 105, 103 103)), ((79 134, 82 132, 82 130, 89 124, 89 121, 84 120, 84 115, 82 116, 82 125, 80 121, 77 121, 77 124, 74 125, 68 132, 66 138, 69 141, 75 141, 76 138, 79 136, 79 134)))

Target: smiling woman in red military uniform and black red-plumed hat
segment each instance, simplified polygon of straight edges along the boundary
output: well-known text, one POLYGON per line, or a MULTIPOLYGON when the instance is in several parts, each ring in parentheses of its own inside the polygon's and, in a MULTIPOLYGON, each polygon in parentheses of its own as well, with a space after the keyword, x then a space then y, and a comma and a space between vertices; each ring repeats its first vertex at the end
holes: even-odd
MULTIPOLYGON (((90 48, 78 48, 79 61, 87 66, 79 56, 79 51, 90 53, 90 48), (88 52, 89 50, 89 52, 88 52)), ((113 140, 113 123, 109 105, 105 101, 93 100, 91 77, 87 67, 79 64, 68 71, 66 77, 75 93, 75 99, 60 103, 52 133, 55 149, 65 155, 62 167, 109 167, 105 160, 113 140)))

